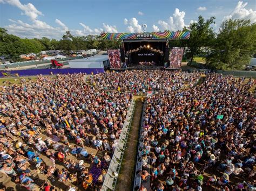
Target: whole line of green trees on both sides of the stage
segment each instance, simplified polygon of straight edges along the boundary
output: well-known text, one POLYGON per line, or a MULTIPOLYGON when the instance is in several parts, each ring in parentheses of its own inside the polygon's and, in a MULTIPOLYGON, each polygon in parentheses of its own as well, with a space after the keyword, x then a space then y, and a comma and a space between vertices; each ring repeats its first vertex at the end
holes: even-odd
MULTIPOLYGON (((198 21, 184 27, 183 31, 191 31, 189 40, 170 40, 170 47, 187 47, 186 59, 191 65, 194 56, 203 56, 208 67, 214 69, 242 69, 248 65, 251 56, 256 54, 256 24, 250 20, 224 20, 219 30, 215 32, 212 25, 215 17, 198 21)), ((73 36, 66 31, 62 39, 19 38, 8 34, 0 28, 0 56, 17 60, 20 54, 39 53, 44 50, 62 49, 65 52, 79 49, 116 49, 121 45, 120 40, 103 40, 97 35, 73 36)))

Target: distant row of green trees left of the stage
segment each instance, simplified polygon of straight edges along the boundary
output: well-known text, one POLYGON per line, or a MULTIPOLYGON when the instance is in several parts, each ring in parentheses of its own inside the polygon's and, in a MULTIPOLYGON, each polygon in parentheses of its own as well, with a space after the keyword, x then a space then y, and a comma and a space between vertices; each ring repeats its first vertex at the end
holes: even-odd
POLYGON ((70 51, 86 49, 117 49, 120 46, 120 40, 103 40, 97 35, 88 35, 83 37, 72 36, 70 31, 66 31, 62 39, 41 39, 19 38, 8 31, 0 28, 0 56, 6 59, 17 61, 19 55, 28 53, 39 53, 46 50, 63 50, 70 54, 70 51))

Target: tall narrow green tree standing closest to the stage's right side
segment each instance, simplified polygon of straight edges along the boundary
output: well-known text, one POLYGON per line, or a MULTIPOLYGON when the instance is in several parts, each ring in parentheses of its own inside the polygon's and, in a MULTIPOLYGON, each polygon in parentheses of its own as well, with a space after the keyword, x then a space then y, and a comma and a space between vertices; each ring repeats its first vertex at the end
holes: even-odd
POLYGON ((208 47, 213 43, 214 32, 211 24, 214 23, 214 19, 215 17, 211 17, 205 21, 202 16, 199 16, 197 23, 190 24, 190 39, 186 41, 186 46, 189 48, 186 54, 187 59, 190 60, 188 65, 191 65, 195 55, 202 53, 202 47, 208 47))

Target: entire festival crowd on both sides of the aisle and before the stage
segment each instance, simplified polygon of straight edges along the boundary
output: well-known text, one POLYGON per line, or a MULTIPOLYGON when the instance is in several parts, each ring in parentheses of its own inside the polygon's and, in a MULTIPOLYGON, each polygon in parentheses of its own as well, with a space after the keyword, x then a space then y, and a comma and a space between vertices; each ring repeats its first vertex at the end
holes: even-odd
POLYGON ((28 190, 100 189, 132 96, 152 92, 140 190, 254 189, 254 80, 210 73, 195 86, 201 75, 125 70, 0 86, 1 173, 28 190))

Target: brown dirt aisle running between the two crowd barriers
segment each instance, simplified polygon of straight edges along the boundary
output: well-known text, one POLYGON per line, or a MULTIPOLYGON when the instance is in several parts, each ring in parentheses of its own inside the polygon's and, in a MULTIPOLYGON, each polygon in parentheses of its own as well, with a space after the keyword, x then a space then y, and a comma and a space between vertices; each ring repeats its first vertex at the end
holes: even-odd
POLYGON ((122 166, 118 175, 116 190, 131 190, 133 185, 133 170, 136 165, 137 143, 139 135, 140 117, 142 116, 141 96, 136 99, 134 116, 132 119, 131 130, 127 139, 126 149, 122 166))

